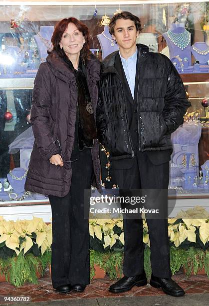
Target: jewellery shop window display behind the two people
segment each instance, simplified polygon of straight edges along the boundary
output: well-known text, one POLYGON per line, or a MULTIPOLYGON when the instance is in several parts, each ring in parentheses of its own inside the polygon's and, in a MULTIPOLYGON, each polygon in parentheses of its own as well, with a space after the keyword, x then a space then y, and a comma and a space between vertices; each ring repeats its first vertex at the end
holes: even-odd
MULTIPOLYGON (((22 186, 33 146, 33 81, 52 48, 56 22, 69 16, 82 20, 91 31, 91 51, 102 60, 118 50, 108 24, 119 9, 139 16, 143 30, 137 42, 172 60, 191 101, 184 124, 172 134, 170 187, 180 194, 209 193, 209 4, 140 2, 0 2, 0 201, 45 198, 22 186)), ((111 152, 101 151, 101 160, 103 184, 112 188, 117 181, 111 177, 111 152)))

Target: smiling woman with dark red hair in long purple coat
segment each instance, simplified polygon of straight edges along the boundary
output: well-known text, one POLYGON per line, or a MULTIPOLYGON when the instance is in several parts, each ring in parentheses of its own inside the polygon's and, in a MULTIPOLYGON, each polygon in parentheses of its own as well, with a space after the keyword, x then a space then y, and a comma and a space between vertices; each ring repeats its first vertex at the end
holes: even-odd
POLYGON ((58 22, 53 50, 35 78, 31 122, 35 142, 25 190, 49 195, 52 285, 83 291, 89 284, 88 203, 84 189, 100 189, 95 109, 100 63, 88 49, 89 31, 70 17, 58 22))

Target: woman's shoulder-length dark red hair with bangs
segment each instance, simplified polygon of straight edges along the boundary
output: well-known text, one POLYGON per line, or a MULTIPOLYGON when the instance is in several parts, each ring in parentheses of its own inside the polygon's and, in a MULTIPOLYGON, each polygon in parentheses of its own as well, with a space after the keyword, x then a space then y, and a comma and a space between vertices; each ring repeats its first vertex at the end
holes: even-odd
POLYGON ((86 60, 89 58, 89 55, 91 54, 90 50, 89 50, 89 41, 90 41, 90 33, 89 33, 89 29, 88 27, 81 22, 80 20, 74 18, 74 17, 69 17, 69 18, 64 18, 62 20, 60 20, 54 29, 53 35, 51 37, 51 42, 53 44, 53 50, 56 50, 56 52, 63 57, 63 51, 60 48, 59 42, 62 38, 62 34, 64 33, 64 31, 66 30, 68 24, 72 22, 74 23, 78 30, 80 32, 83 33, 84 37, 85 37, 85 44, 83 45, 81 51, 80 51, 80 56, 83 60, 86 60))

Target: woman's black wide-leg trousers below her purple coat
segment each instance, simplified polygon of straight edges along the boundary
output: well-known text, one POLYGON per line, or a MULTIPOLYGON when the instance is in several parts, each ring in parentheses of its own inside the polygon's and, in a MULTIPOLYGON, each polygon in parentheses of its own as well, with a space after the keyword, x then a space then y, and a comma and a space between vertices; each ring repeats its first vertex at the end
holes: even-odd
POLYGON ((91 188, 91 150, 72 162, 72 181, 64 197, 49 196, 52 212, 52 285, 89 284, 89 223, 84 219, 83 189, 91 188))

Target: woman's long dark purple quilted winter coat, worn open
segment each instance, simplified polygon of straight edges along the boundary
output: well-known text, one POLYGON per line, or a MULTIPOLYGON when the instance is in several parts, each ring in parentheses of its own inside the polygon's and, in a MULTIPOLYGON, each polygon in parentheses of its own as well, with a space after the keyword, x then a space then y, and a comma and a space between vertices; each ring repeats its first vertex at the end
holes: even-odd
MULTIPOLYGON (((93 54, 86 61, 86 73, 94 114, 96 114, 100 62, 93 54)), ((51 164, 49 158, 60 153, 56 141, 58 139, 62 149, 62 159, 70 160, 74 143, 76 103, 75 75, 68 64, 52 51, 47 56, 46 62, 40 64, 34 81, 31 123, 35 141, 25 190, 61 197, 69 192, 72 176, 70 162, 64 162, 61 167, 51 164)), ((92 185, 100 189, 97 140, 94 140, 91 154, 95 174, 92 185)))

